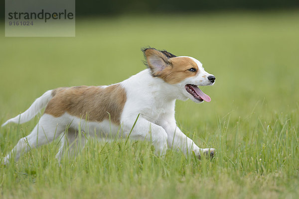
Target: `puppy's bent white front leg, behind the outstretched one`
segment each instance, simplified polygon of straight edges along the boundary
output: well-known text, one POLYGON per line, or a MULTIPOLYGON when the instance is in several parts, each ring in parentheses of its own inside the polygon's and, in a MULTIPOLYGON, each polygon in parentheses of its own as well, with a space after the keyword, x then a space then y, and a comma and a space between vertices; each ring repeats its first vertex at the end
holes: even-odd
POLYGON ((135 120, 136 118, 130 117, 123 120, 122 126, 125 136, 129 136, 130 139, 134 140, 151 141, 156 154, 161 156, 165 155, 167 150, 167 133, 165 130, 142 116, 137 119, 134 126, 135 120))

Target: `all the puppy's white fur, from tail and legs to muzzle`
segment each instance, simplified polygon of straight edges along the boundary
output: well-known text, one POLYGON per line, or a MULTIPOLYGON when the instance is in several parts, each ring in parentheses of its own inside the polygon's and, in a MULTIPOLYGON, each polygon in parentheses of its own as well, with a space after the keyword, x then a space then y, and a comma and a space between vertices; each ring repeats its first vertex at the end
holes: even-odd
MULTIPOLYGON (((199 102, 185 90, 186 84, 213 85, 207 79, 210 74, 204 71, 201 63, 192 57, 189 58, 198 65, 199 73, 195 77, 186 78, 178 84, 171 85, 158 77, 152 77, 149 69, 121 82, 121 86, 127 93, 127 100, 120 118, 121 126, 117 126, 108 120, 90 122, 68 113, 60 117, 44 114, 32 132, 19 140, 2 163, 6 164, 13 152, 15 152, 15 159, 17 160, 21 153, 49 143, 59 136, 62 136, 62 144, 56 157, 61 159, 63 151, 66 150, 66 145, 68 145, 68 150, 71 151, 71 145, 76 142, 77 137, 74 133, 76 131, 84 132, 86 136, 97 135, 106 140, 127 137, 139 114, 140 116, 130 134, 130 138, 151 141, 158 155, 165 155, 167 148, 181 150, 186 155, 192 151, 197 156, 200 156, 202 152, 214 153, 212 148, 199 148, 177 127, 174 118, 176 99, 191 99, 197 103, 199 102), (70 127, 70 130, 65 132, 67 127, 70 127)), ((51 98, 51 91, 47 91, 35 100, 28 110, 7 120, 2 126, 9 122, 23 123, 30 120, 51 98)), ((84 143, 82 145, 84 147, 84 143)))

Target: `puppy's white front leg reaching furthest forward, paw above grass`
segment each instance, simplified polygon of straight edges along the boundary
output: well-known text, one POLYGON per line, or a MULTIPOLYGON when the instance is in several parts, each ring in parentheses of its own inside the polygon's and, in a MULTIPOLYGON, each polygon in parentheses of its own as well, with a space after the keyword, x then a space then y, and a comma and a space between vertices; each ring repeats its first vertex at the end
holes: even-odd
POLYGON ((193 140, 187 137, 176 125, 175 120, 166 121, 162 120, 160 125, 165 129, 167 133, 168 147, 172 149, 181 150, 185 155, 194 152, 195 155, 200 158, 201 153, 213 157, 215 149, 213 148, 199 148, 193 140))

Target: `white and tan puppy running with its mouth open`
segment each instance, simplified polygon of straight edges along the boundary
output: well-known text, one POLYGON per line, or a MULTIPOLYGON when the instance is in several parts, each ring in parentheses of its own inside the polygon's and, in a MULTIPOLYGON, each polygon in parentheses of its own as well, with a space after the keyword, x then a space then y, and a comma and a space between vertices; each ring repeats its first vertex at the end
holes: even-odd
POLYGON ((199 148, 177 127, 174 105, 176 99, 210 101, 197 86, 213 85, 215 77, 192 57, 176 57, 154 48, 143 52, 148 69, 129 79, 110 86, 47 91, 25 112, 7 120, 2 126, 27 122, 46 107, 32 132, 18 141, 2 163, 7 164, 12 153, 17 160, 23 152, 51 142, 67 128, 70 130, 62 136, 58 159, 62 157, 65 141, 76 141, 78 129, 89 135, 100 133, 104 138, 128 137, 138 115, 130 138, 151 141, 158 155, 164 155, 168 147, 185 155, 193 151, 198 157, 201 153, 213 157, 214 149, 199 148))

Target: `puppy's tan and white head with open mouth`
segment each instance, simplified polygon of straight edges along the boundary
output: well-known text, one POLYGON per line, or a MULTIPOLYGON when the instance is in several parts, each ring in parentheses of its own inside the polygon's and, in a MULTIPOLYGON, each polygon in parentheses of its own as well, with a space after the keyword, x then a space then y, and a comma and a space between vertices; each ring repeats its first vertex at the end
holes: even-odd
POLYGON ((207 73, 198 60, 187 56, 176 57, 167 51, 154 48, 142 50, 151 75, 178 87, 183 100, 189 98, 196 103, 211 101, 210 97, 204 94, 198 86, 213 85, 215 77, 207 73))

